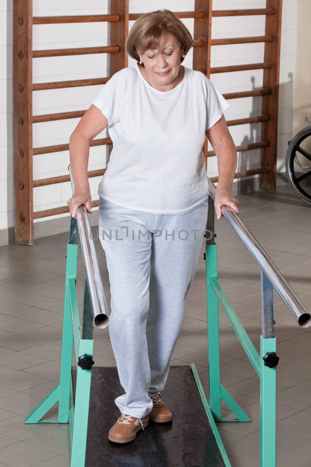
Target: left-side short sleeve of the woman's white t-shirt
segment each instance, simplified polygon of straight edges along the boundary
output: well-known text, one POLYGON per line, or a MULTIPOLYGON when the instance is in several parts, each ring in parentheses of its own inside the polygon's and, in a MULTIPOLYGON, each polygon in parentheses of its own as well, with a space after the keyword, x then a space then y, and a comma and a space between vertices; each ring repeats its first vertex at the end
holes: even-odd
POLYGON ((98 107, 107 118, 109 127, 118 121, 117 113, 124 93, 124 86, 122 85, 124 70, 117 71, 112 75, 92 100, 92 104, 98 107))

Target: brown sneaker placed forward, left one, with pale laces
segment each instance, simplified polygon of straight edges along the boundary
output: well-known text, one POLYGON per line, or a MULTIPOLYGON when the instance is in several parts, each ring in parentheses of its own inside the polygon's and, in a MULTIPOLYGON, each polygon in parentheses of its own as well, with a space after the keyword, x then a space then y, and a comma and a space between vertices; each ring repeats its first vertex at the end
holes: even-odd
POLYGON ((128 443, 136 437, 136 433, 148 425, 149 414, 144 418, 136 418, 121 413, 117 422, 111 426, 108 438, 115 443, 128 443))

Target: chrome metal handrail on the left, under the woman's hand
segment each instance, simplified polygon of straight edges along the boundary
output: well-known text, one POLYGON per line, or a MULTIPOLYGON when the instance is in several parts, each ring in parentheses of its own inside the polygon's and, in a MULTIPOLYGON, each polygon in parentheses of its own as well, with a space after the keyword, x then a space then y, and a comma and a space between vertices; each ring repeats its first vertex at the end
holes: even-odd
MULTIPOLYGON (((72 194, 75 193, 75 184, 72 178, 70 164, 68 166, 72 194)), ((100 276, 94 241, 91 236, 90 222, 85 205, 81 205, 76 210, 76 219, 81 240, 83 261, 87 284, 90 295, 90 304, 93 315, 93 323, 99 328, 104 328, 109 324, 109 311, 104 294, 103 282, 100 276)))

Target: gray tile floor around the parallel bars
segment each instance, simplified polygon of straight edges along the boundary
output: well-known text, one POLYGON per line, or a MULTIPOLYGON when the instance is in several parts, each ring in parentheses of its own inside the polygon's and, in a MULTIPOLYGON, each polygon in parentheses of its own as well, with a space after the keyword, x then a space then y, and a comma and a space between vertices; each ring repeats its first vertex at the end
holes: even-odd
MULTIPOLYGON (((237 197, 240 217, 311 311, 310 207, 288 185, 276 193, 237 197)), ((219 279, 259 350, 260 270, 226 219, 216 221, 219 279)), ((69 431, 63 424, 24 424, 60 375, 65 254, 68 233, 32 247, 0 247, 0 467, 68 467, 69 431)), ((109 277, 97 241, 107 304, 109 277)), ((80 250, 81 251, 81 250, 80 250)), ((194 362, 208 395, 204 245, 172 364, 194 362)), ((78 258, 77 296, 83 304, 84 265, 78 258)), ((310 467, 311 336, 275 293, 277 353, 277 466, 310 467)), ((259 465, 259 380, 220 308, 221 382, 251 423, 218 424, 232 467, 259 465)), ((94 332, 96 365, 115 366, 108 329, 94 332)), ((167 401, 169 403, 169 401, 167 401)), ((223 406, 223 416, 230 416, 223 406)), ((57 405, 46 418, 57 416, 57 405)), ((113 424, 115 420, 111 420, 113 424)), ((195 427, 194 427, 195 429, 195 427)), ((198 466, 199 467, 199 466, 198 466)))

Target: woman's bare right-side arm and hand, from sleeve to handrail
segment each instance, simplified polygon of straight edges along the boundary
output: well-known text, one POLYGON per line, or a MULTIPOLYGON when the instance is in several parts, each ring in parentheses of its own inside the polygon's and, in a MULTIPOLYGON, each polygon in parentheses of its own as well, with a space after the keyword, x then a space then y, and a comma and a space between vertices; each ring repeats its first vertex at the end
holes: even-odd
POLYGON ((229 133, 228 125, 223 114, 221 119, 206 131, 206 134, 217 156, 219 177, 214 206, 217 219, 221 219, 221 206, 223 205, 230 206, 237 214, 239 213, 237 207, 239 201, 231 194, 237 154, 235 143, 229 133))

